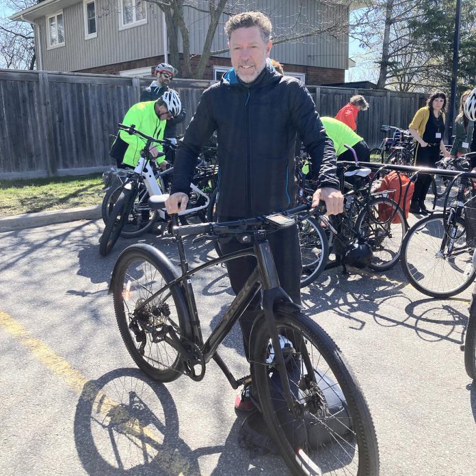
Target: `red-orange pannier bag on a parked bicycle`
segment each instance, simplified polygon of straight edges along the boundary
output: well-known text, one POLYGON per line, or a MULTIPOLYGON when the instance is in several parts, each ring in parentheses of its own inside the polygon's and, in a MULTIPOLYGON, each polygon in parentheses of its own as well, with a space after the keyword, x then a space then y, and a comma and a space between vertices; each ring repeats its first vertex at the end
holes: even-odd
MULTIPOLYGON (((380 187, 377 191, 384 193, 388 190, 388 198, 391 198, 399 204, 399 207, 404 211, 405 217, 408 218, 410 211, 410 201, 412 200, 413 191, 415 188, 414 181, 410 182, 410 178, 405 174, 399 174, 398 172, 390 172, 386 174, 382 179, 380 187), (407 191, 408 189, 408 191, 407 191), (405 203, 404 203, 405 200, 405 203)), ((395 212, 395 209, 391 205, 379 204, 378 214, 382 222, 386 222, 388 218, 395 212)), ((392 220, 392 223, 400 223, 400 219, 397 215, 392 220)))

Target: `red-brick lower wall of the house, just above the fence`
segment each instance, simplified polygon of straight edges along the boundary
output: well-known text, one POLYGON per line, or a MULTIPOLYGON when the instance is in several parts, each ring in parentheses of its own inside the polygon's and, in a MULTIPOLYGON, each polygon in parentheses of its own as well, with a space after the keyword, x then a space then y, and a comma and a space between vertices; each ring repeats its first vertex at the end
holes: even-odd
MULTIPOLYGON (((190 59, 192 69, 196 68, 199 60, 199 56, 194 56, 190 59)), ((120 71, 146 68, 147 66, 150 66, 150 74, 152 75, 155 65, 161 62, 163 62, 163 55, 143 59, 134 59, 133 61, 129 62, 108 64, 106 66, 97 66, 96 68, 88 68, 75 72, 92 72, 96 74, 102 73, 105 75, 118 75, 120 71)), ((230 58, 210 57, 207 66, 205 66, 202 79, 207 79, 209 81, 213 80, 213 66, 231 68, 230 58)), ((306 75, 306 84, 309 85, 318 86, 330 83, 342 83, 345 79, 345 71, 340 69, 317 68, 317 66, 300 66, 298 64, 285 64, 283 66, 286 71, 304 73, 306 75)), ((181 59, 181 67, 183 68, 183 59, 181 59)))

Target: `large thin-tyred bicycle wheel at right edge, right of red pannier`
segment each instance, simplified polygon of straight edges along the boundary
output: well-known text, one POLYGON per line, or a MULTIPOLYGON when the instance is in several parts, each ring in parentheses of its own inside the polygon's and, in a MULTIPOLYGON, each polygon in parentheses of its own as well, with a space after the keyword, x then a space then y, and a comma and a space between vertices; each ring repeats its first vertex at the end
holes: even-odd
POLYGON ((471 285, 476 275, 472 256, 464 220, 445 224, 442 213, 416 222, 401 245, 405 276, 414 288, 432 297, 451 297, 471 285))

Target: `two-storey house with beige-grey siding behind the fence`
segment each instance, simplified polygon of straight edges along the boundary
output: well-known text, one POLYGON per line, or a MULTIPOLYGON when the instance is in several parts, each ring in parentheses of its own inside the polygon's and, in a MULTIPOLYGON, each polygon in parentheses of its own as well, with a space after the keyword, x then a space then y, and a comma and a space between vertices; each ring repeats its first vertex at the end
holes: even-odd
MULTIPOLYGON (((192 64, 207 34, 208 3, 196 0, 197 8, 184 8, 192 64)), ((345 26, 349 0, 246 0, 243 9, 269 14, 275 36, 291 31, 291 25, 300 31, 323 25, 329 31, 275 44, 272 57, 306 84, 343 82, 352 66, 345 26)), ((39 70, 150 76, 153 65, 168 60, 165 16, 144 0, 42 0, 10 18, 34 25, 39 70)), ((222 15, 211 51, 226 49, 227 19, 222 15)), ((219 79, 229 67, 228 53, 213 55, 203 79, 219 79)))

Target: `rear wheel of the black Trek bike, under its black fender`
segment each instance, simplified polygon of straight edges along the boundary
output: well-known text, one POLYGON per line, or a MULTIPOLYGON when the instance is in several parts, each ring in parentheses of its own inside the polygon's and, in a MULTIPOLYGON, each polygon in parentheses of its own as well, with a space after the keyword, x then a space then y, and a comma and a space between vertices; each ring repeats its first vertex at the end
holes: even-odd
POLYGON ((174 266, 153 246, 129 246, 111 277, 114 310, 122 340, 137 367, 159 382, 172 382, 183 373, 180 353, 171 345, 171 331, 185 336, 187 304, 179 285, 148 297, 178 277, 174 266))

